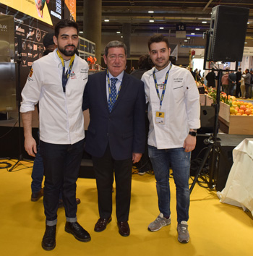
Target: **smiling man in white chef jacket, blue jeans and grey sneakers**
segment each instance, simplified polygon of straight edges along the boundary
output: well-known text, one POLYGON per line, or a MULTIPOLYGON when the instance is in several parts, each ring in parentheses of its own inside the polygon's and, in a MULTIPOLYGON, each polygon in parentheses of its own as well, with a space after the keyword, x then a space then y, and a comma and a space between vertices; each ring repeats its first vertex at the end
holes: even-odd
POLYGON ((155 67, 143 74, 142 81, 149 103, 148 152, 160 210, 148 230, 158 231, 171 223, 169 176, 172 168, 176 184, 178 240, 187 243, 190 158, 200 127, 200 94, 192 74, 169 61, 168 38, 162 34, 153 35, 148 48, 155 67))

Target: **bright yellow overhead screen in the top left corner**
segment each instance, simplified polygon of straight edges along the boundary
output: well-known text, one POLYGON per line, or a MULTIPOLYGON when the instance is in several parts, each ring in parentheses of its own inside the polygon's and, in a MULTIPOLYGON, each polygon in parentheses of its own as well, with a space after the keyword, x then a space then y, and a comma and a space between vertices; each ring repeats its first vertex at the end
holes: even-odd
MULTIPOLYGON (((30 15, 48 25, 55 25, 61 20, 63 0, 1 0, 1 4, 30 15)), ((70 0, 69 0, 70 1, 70 0)))

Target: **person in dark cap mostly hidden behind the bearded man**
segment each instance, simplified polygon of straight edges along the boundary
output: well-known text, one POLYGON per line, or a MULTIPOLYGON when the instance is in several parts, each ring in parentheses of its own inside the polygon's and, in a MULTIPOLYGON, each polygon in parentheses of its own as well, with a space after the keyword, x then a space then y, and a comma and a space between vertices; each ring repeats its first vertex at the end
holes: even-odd
MULTIPOLYGON (((54 49, 56 48, 56 45, 53 42, 53 35, 54 33, 47 33, 43 37, 43 46, 45 46, 45 51, 43 52, 43 56, 48 55, 54 49)), ((39 112, 39 106, 37 104, 38 112, 39 112)), ((38 132, 38 137, 40 137, 40 134, 38 132)), ((32 196, 31 201, 36 202, 40 199, 40 197, 43 196, 43 175, 44 175, 44 168, 43 168, 43 159, 40 154, 40 144, 38 144, 37 147, 37 153, 35 155, 35 159, 33 162, 33 171, 32 171, 32 183, 31 183, 31 189, 32 189, 32 196)), ((80 198, 76 199, 77 205, 80 204, 81 200, 80 198)), ((60 193, 59 195, 59 208, 64 207, 64 203, 62 200, 62 195, 60 193)))

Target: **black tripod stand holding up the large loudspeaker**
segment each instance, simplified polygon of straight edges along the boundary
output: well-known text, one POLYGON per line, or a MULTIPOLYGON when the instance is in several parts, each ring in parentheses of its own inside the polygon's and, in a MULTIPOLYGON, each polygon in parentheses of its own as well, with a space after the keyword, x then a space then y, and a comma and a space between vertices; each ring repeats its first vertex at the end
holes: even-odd
POLYGON ((213 104, 215 108, 215 123, 213 127, 213 135, 205 140, 205 144, 207 144, 207 151, 204 155, 202 164, 197 171, 197 174, 194 177, 192 182, 192 186, 190 187, 190 193, 192 193, 192 189, 197 182, 197 179, 200 177, 204 182, 207 183, 210 189, 213 189, 216 186, 217 182, 217 174, 218 174, 218 161, 220 157, 221 147, 220 142, 217 140, 217 132, 218 132, 218 115, 220 111, 220 84, 221 84, 221 77, 222 77, 222 69, 218 71, 218 85, 217 85, 217 93, 216 93, 216 102, 213 104), (210 168, 209 168, 209 179, 206 179, 203 176, 200 176, 202 170, 207 163, 208 158, 210 159, 210 168))

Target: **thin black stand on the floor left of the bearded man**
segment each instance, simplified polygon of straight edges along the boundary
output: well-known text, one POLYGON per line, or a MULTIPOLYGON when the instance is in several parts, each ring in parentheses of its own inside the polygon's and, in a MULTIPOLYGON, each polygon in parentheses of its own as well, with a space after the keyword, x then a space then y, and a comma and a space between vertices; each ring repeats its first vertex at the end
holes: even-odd
MULTIPOLYGON (((19 49, 21 47, 21 42, 18 42, 19 49)), ((17 59, 17 110, 18 110, 18 119, 19 119, 19 128, 18 128, 18 143, 19 143, 19 157, 17 159, 17 163, 12 166, 8 171, 12 171, 19 163, 20 161, 23 160, 23 155, 22 155, 22 148, 21 148, 21 124, 20 124, 20 65, 21 65, 21 51, 19 50, 18 53, 18 59, 17 59)))

